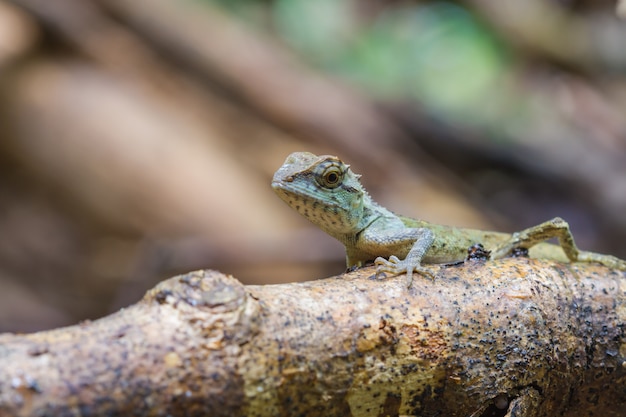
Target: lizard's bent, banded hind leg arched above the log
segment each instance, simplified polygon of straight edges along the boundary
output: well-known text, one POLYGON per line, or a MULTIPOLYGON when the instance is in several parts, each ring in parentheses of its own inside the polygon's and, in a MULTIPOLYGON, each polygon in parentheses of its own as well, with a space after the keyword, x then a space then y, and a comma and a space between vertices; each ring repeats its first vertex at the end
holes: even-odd
POLYGON ((626 270, 626 261, 615 256, 602 255, 599 253, 581 251, 574 243, 574 236, 570 231, 569 224, 560 217, 516 232, 511 238, 491 252, 492 259, 503 258, 511 254, 515 248, 531 248, 548 239, 558 238, 559 244, 565 255, 571 262, 598 262, 614 269, 626 270))

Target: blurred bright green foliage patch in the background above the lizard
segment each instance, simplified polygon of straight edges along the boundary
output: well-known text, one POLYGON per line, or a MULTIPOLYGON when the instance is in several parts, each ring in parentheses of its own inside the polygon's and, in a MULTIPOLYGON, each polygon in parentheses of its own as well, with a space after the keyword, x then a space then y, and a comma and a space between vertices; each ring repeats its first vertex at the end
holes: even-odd
POLYGON ((353 0, 204 1, 272 32, 311 65, 377 99, 418 103, 501 138, 532 119, 532 98, 509 76, 506 48, 459 4, 364 10, 367 4, 353 0))

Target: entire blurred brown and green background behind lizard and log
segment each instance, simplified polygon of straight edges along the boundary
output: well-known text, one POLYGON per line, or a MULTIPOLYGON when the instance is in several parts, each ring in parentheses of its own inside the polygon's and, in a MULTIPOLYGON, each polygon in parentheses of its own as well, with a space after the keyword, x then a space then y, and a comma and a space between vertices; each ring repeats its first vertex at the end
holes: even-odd
POLYGON ((585 0, 0 0, 0 331, 195 269, 345 269, 293 151, 388 208, 626 257, 626 9, 585 0))

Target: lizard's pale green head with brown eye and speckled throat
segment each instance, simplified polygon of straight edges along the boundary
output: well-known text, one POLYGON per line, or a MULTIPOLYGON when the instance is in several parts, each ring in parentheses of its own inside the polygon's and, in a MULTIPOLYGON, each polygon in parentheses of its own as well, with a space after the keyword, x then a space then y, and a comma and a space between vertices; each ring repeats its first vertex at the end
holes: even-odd
POLYGON ((367 196, 359 177, 336 156, 294 152, 274 174, 272 188, 292 208, 336 237, 359 230, 367 196))

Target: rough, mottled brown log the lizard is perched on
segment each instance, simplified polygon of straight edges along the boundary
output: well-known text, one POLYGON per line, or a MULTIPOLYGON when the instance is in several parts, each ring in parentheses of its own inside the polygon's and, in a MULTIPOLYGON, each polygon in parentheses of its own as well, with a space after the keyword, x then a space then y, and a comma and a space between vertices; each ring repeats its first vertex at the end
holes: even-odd
POLYGON ((626 278, 530 259, 244 286, 162 282, 109 317, 0 335, 0 415, 621 416, 626 278))

